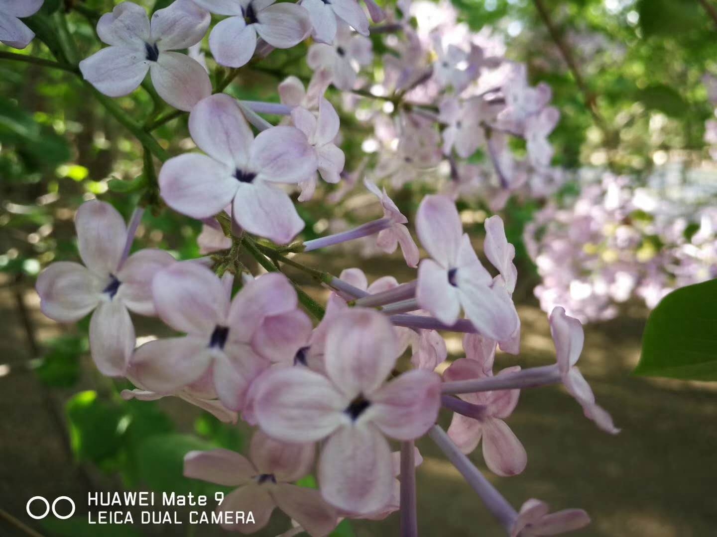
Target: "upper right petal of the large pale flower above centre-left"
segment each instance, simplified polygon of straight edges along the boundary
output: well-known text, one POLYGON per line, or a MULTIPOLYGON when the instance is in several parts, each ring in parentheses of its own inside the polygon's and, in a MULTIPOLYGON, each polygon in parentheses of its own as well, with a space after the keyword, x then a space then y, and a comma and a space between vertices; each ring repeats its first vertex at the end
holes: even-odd
POLYGON ((257 179, 260 180, 299 183, 316 171, 316 164, 313 147, 296 127, 264 130, 256 137, 250 150, 250 168, 257 170, 257 179))

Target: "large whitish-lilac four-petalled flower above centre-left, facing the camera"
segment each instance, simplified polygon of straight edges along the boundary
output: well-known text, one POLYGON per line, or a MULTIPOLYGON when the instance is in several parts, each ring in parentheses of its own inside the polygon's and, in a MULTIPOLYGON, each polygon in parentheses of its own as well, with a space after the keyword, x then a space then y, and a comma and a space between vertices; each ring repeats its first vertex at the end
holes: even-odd
POLYGON ((255 138, 237 102, 223 94, 194 107, 189 132, 206 155, 186 153, 164 163, 159 187, 167 205, 209 218, 233 203, 239 226, 277 243, 288 243, 303 229, 288 194, 275 185, 298 183, 315 172, 315 150, 303 132, 272 127, 255 138))

